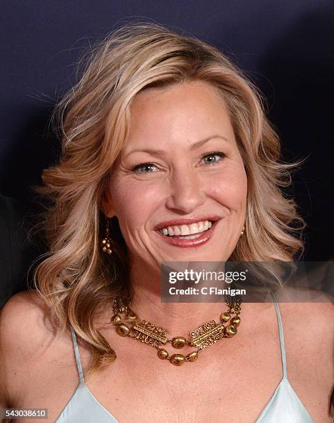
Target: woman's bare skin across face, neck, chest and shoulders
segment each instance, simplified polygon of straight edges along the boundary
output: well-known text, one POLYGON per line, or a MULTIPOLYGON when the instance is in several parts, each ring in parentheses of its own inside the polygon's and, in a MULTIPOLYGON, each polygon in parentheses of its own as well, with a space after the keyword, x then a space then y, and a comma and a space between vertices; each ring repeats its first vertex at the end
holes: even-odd
MULTIPOLYGON (((143 92, 131 112, 130 137, 110 175, 104 210, 119 219, 130 250, 132 309, 141 319, 166 326, 170 337, 188 335, 203 321, 217 321, 222 304, 161 303, 159 262, 228 258, 244 225, 244 166, 224 102, 208 84, 143 92), (215 138, 190 151, 194 142, 217 133, 226 139, 215 138), (164 154, 156 157, 143 152, 153 145, 164 154), (139 152, 128 156, 137 148, 139 152), (227 158, 217 165, 204 165, 202 156, 212 151, 223 151, 227 158), (133 173, 131 168, 142 162, 154 162, 162 170, 133 173), (208 212, 222 220, 213 238, 200 247, 176 248, 161 241, 153 230, 164 220, 208 212)), ((327 413, 333 380, 331 304, 281 303, 279 308, 288 380, 315 422, 332 422, 327 413)), ((121 423, 161 418, 253 423, 282 379, 273 303, 244 303, 237 335, 210 346, 195 363, 180 367, 159 360, 153 348, 119 337, 109 320, 108 312, 96 324, 117 359, 87 386, 121 423)), ((168 350, 179 352, 169 345, 168 350)), ((79 351, 86 374, 90 355, 82 341, 79 351)), ((0 408, 48 408, 48 421, 54 422, 75 392, 78 374, 70 333, 52 328, 50 310, 37 294, 14 295, 1 310, 0 357, 4 382, 0 383, 0 408)))

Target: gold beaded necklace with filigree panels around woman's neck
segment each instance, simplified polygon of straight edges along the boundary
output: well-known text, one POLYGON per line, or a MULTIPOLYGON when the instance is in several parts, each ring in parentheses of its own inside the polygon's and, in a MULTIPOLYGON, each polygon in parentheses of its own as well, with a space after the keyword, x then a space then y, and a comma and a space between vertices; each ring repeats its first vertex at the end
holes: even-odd
POLYGON ((216 323, 215 320, 210 320, 204 323, 204 325, 192 330, 188 339, 185 337, 168 339, 168 332, 166 329, 157 327, 149 321, 140 320, 137 315, 130 310, 130 303, 131 301, 126 297, 116 297, 114 299, 112 311, 115 314, 112 315, 110 323, 116 326, 117 334, 121 337, 131 337, 144 344, 153 346, 153 348, 157 349, 159 359, 169 359, 170 363, 175 366, 181 366, 185 361, 196 361, 199 351, 215 344, 219 339, 233 337, 237 333, 237 326, 239 326, 240 323, 239 314, 241 311, 241 297, 235 296, 232 298, 227 296, 227 310, 220 315, 220 323, 216 323), (121 314, 124 314, 123 319, 121 314), (235 316, 232 317, 232 314, 235 314, 235 316), (126 323, 130 323, 130 328, 126 323), (174 348, 183 348, 186 345, 190 345, 196 347, 197 350, 187 355, 169 355, 167 350, 160 348, 168 342, 170 342, 174 348))

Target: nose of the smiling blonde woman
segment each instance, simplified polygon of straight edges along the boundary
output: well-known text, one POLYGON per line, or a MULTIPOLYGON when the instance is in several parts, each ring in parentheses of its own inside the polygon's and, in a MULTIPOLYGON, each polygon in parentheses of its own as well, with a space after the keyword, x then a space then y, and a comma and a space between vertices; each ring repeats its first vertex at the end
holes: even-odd
POLYGON ((206 198, 204 187, 192 169, 178 169, 170 179, 170 196, 166 207, 179 214, 190 214, 201 206, 206 198))

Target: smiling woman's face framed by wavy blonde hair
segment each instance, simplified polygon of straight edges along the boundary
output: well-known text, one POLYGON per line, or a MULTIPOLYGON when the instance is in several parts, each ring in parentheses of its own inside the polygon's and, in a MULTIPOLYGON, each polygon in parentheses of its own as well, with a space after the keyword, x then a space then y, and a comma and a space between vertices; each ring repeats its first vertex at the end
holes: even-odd
POLYGON ((247 179, 226 106, 206 82, 149 88, 131 106, 104 210, 130 263, 226 261, 244 226, 247 179))

